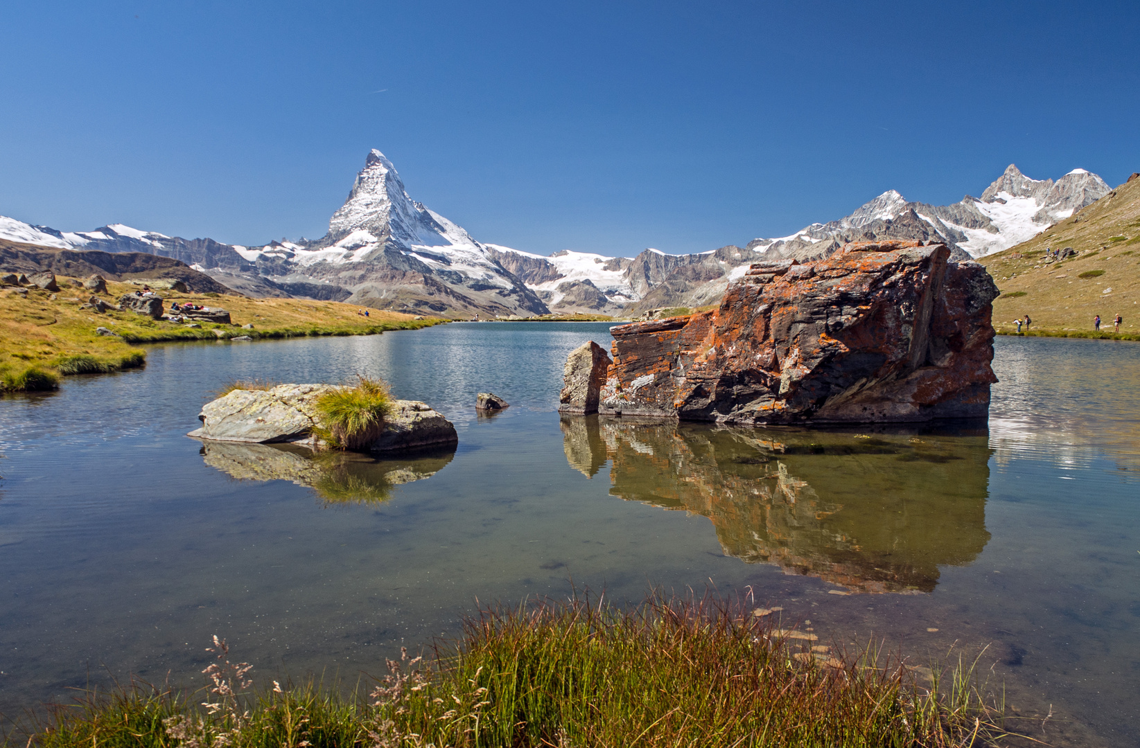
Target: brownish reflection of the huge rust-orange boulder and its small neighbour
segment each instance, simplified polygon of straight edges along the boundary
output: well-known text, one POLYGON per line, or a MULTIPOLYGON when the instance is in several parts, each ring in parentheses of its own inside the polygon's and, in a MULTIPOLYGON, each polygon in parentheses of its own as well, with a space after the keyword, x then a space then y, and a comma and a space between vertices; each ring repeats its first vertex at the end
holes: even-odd
POLYGON ((930 592, 990 540, 985 429, 727 429, 562 418, 571 467, 708 517, 724 552, 856 592, 930 592))

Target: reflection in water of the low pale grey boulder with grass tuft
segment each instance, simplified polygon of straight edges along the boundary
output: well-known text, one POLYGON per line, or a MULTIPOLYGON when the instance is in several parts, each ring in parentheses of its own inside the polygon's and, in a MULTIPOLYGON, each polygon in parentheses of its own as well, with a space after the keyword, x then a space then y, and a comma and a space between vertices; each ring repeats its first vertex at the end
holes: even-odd
POLYGON ((239 480, 292 480, 312 488, 326 503, 373 503, 391 499, 402 483, 435 475, 455 450, 375 459, 353 452, 314 453, 291 444, 204 442, 202 457, 239 480))

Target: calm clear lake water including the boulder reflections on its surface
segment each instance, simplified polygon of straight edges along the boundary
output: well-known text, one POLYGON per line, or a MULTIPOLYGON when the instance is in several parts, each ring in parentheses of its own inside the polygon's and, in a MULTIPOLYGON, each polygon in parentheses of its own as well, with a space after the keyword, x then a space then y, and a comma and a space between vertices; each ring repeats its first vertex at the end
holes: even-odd
POLYGON ((260 685, 351 687, 477 600, 714 586, 821 643, 987 647, 1034 717, 1008 726, 1140 746, 1140 345, 1001 337, 988 425, 803 430, 560 419, 591 339, 608 326, 163 345, 0 398, 0 712, 130 674, 201 685, 213 634, 260 685), (356 373, 443 412, 458 449, 329 467, 185 436, 235 379, 356 373), (478 416, 480 391, 511 408, 478 416))

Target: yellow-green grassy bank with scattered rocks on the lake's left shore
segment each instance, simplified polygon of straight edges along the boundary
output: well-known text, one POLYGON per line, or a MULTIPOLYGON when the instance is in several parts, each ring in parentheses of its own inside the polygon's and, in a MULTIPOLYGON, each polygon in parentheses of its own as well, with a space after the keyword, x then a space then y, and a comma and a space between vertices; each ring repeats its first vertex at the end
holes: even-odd
POLYGON ((117 299, 138 285, 107 281, 107 291, 92 294, 57 277, 60 290, 0 288, 0 393, 55 389, 62 376, 103 373, 145 365, 142 344, 198 340, 272 340, 311 336, 378 335, 418 329, 448 320, 368 310, 339 302, 296 298, 247 298, 219 294, 158 290, 169 311, 173 302, 220 306, 230 324, 153 320, 121 312, 117 299), (112 309, 98 313, 85 303, 97 296, 112 309), (106 334, 98 334, 104 328, 106 334))

